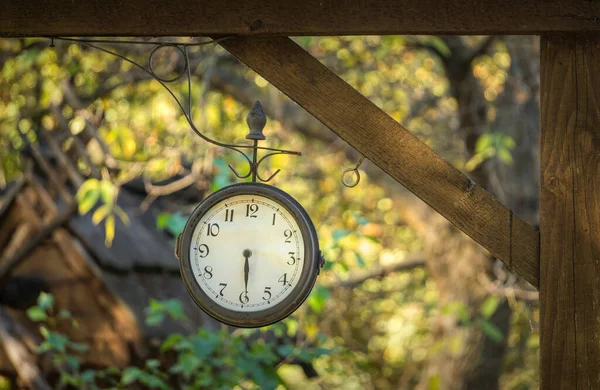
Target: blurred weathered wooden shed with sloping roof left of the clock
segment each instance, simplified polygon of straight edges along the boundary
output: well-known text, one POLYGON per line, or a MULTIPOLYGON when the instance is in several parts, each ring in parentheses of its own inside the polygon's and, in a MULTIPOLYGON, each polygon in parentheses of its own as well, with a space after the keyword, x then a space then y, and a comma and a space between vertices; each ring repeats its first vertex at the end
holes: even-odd
MULTIPOLYGON (((60 110, 53 112, 62 115, 60 110)), ((89 124, 73 136, 60 122, 52 131, 38 132, 36 142, 23 137, 28 169, 0 208, 2 302, 25 309, 35 303, 40 290, 50 291, 56 306, 69 310, 78 321, 75 328, 63 324, 62 331, 90 346, 83 363, 96 367, 131 364, 147 354, 153 339, 187 330, 172 322, 146 326, 149 297, 179 298, 191 326, 210 326, 187 299, 169 243, 172 237, 156 228, 157 210, 150 206, 145 213, 139 211, 143 196, 122 190, 118 204, 130 215, 131 225, 117 224, 110 250, 104 244, 103 226, 93 224, 89 213, 77 214, 76 189, 86 176, 100 175, 87 148, 90 143, 105 147, 89 124)), ((20 345, 21 355, 35 356, 35 345, 27 339, 35 338, 37 325, 23 310, 6 308, 0 314, 2 344, 6 347, 12 340, 12 345, 20 345)), ((0 371, 13 372, 14 366, 19 372, 8 355, 0 355, 0 371)), ((21 372, 19 376, 23 380, 21 372)))

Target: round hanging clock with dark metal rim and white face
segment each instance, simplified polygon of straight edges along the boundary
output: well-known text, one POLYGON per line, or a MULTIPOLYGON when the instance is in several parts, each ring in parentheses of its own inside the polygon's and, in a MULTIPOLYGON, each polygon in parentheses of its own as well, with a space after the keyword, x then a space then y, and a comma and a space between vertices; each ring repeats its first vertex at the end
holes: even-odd
POLYGON ((245 328, 293 313, 322 266, 304 208, 261 183, 234 184, 206 198, 178 238, 177 253, 196 304, 223 323, 245 328))

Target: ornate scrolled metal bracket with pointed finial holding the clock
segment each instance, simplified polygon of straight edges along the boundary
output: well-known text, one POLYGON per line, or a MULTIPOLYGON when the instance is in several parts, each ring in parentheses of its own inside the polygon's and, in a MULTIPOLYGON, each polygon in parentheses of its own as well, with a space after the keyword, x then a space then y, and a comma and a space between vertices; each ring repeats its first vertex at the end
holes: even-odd
POLYGON ((269 182, 279 173, 280 170, 278 169, 273 174, 271 174, 268 178, 263 179, 258 173, 258 167, 265 159, 267 159, 268 157, 277 155, 277 154, 290 154, 290 155, 295 155, 295 156, 300 156, 302 154, 300 152, 296 152, 296 151, 292 151, 292 150, 284 150, 284 149, 276 149, 276 148, 268 148, 268 147, 258 146, 258 141, 266 139, 266 137, 264 136, 262 131, 263 131, 263 128, 265 127, 265 124, 267 123, 267 117, 266 117, 265 112, 259 102, 254 103, 254 106, 252 107, 252 109, 248 113, 248 117, 246 118, 246 122, 248 123, 248 126, 250 127, 250 133, 248 133, 248 135, 246 136, 246 139, 253 141, 253 143, 251 145, 227 144, 227 143, 223 143, 223 142, 214 140, 214 139, 208 137, 207 135, 203 134, 200 130, 198 130, 198 128, 196 127, 196 125, 194 124, 194 121, 193 121, 192 109, 193 109, 194 105, 193 105, 193 101, 192 101, 192 96, 193 96, 193 94, 192 94, 192 72, 191 72, 190 65, 189 65, 190 59, 189 59, 189 54, 188 54, 188 48, 190 46, 215 44, 217 42, 220 42, 221 40, 229 39, 229 38, 231 38, 231 37, 224 37, 224 38, 211 40, 211 41, 204 41, 204 42, 194 42, 194 43, 177 43, 177 42, 175 42, 175 43, 173 43, 173 42, 160 42, 160 41, 148 42, 148 41, 131 41, 131 40, 106 40, 106 39, 48 37, 48 39, 50 39, 51 47, 55 47, 54 46, 55 40, 77 42, 85 47, 96 49, 96 50, 102 51, 104 53, 110 54, 112 56, 118 57, 123 61, 129 62, 130 64, 134 65, 138 69, 141 69, 142 71, 144 71, 145 73, 150 75, 152 78, 154 78, 158 83, 160 83, 160 85, 163 86, 163 88, 165 88, 167 90, 167 92, 169 92, 171 97, 175 100, 175 102, 179 106, 179 108, 180 108, 181 112, 183 113, 185 119, 187 120, 190 128, 194 131, 194 133, 196 133, 196 135, 198 135, 200 138, 202 138, 203 140, 205 140, 208 143, 211 143, 213 145, 220 146, 223 148, 227 148, 230 150, 234 150, 244 157, 244 159, 248 162, 248 164, 250 166, 248 174, 241 175, 233 166, 229 165, 229 168, 233 171, 233 173, 238 178, 246 179, 246 178, 252 176, 253 182, 256 182, 256 179, 258 179, 262 182, 269 182), (148 56, 148 65, 144 66, 144 65, 141 65, 141 64, 135 62, 134 60, 132 60, 130 58, 127 58, 124 55, 121 55, 121 54, 115 52, 115 51, 98 46, 98 44, 107 44, 107 43, 113 44, 113 45, 115 45, 115 44, 152 45, 152 46, 154 46, 154 49, 150 52, 150 54, 148 56), (158 76, 156 74, 156 71, 155 71, 155 68, 153 65, 153 61, 152 61, 154 56, 158 52, 160 52, 161 49, 164 49, 167 47, 175 48, 177 50, 177 52, 179 53, 179 55, 181 55, 183 58, 183 69, 177 75, 170 77, 170 78, 158 76), (188 92, 188 94, 187 94, 188 95, 187 110, 186 110, 186 107, 183 105, 183 103, 177 98, 175 93, 167 86, 167 83, 172 83, 172 82, 179 80, 184 74, 187 77, 187 92, 188 92), (246 153, 244 153, 243 149, 252 149, 252 160, 246 155, 246 153), (268 151, 269 153, 267 153, 265 156, 263 156, 260 160, 257 161, 258 150, 265 150, 265 151, 268 151))

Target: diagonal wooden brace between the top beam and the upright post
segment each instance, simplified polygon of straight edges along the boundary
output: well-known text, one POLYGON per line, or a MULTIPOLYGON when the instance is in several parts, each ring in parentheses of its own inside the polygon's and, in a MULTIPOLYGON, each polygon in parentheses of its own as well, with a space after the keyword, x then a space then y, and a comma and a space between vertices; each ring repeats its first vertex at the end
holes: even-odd
POLYGON ((369 160, 539 285, 538 232, 289 38, 221 44, 369 160))

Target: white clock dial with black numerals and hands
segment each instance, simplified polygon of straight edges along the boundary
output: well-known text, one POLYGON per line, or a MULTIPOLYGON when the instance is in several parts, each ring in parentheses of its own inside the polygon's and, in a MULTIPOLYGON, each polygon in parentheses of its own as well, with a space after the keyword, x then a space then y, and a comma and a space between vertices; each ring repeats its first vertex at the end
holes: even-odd
POLYGON ((257 312, 294 291, 304 250, 302 231, 285 207, 245 194, 204 213, 191 236, 189 259, 196 283, 216 305, 257 312))

